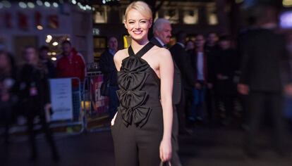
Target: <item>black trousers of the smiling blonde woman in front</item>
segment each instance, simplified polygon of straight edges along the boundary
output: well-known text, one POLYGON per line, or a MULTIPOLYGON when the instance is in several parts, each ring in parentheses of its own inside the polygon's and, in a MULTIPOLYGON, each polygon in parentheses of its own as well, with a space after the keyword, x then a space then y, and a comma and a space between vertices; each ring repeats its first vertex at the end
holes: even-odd
POLYGON ((142 127, 123 123, 118 112, 111 126, 116 166, 158 166, 159 146, 163 136, 162 107, 152 108, 142 127))

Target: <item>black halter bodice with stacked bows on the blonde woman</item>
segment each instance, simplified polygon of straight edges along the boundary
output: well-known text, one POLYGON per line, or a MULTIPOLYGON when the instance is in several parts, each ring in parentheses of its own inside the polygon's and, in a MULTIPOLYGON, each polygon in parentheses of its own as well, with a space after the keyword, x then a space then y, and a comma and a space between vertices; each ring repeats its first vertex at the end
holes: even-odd
POLYGON ((123 59, 118 72, 118 111, 126 126, 135 124, 142 127, 152 108, 161 106, 160 80, 147 61, 141 58, 152 46, 149 42, 136 54, 130 46, 129 56, 123 59))

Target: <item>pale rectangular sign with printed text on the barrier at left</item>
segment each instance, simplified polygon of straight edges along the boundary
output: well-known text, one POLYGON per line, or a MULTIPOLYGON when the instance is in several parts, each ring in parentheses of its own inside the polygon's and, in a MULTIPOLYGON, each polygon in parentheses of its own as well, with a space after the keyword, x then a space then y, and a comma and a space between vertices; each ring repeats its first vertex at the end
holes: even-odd
POLYGON ((54 120, 72 120, 72 84, 71 79, 49 79, 51 91, 51 121, 54 120))

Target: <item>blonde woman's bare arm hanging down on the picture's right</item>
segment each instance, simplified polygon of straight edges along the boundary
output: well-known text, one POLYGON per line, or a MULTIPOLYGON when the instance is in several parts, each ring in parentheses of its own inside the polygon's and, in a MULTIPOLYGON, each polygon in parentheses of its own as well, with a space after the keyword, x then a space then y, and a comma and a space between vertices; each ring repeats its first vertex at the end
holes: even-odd
MULTIPOLYGON (((171 131, 173 120, 172 106, 172 89, 174 84, 174 62, 171 58, 171 53, 162 49, 159 57, 159 72, 160 72, 160 93, 163 110, 164 133, 162 143, 160 145, 160 158, 162 161, 171 159, 171 131)), ((159 51, 160 52, 160 51, 159 51)))

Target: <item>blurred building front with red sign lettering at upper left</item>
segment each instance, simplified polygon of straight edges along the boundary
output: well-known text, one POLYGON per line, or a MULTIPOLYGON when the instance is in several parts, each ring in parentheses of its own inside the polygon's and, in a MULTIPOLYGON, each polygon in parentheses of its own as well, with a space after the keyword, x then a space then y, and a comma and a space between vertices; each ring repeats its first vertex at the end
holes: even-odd
POLYGON ((21 59, 25 46, 49 46, 52 60, 70 40, 87 63, 93 61, 92 10, 60 1, 0 1, 0 49, 21 59))

